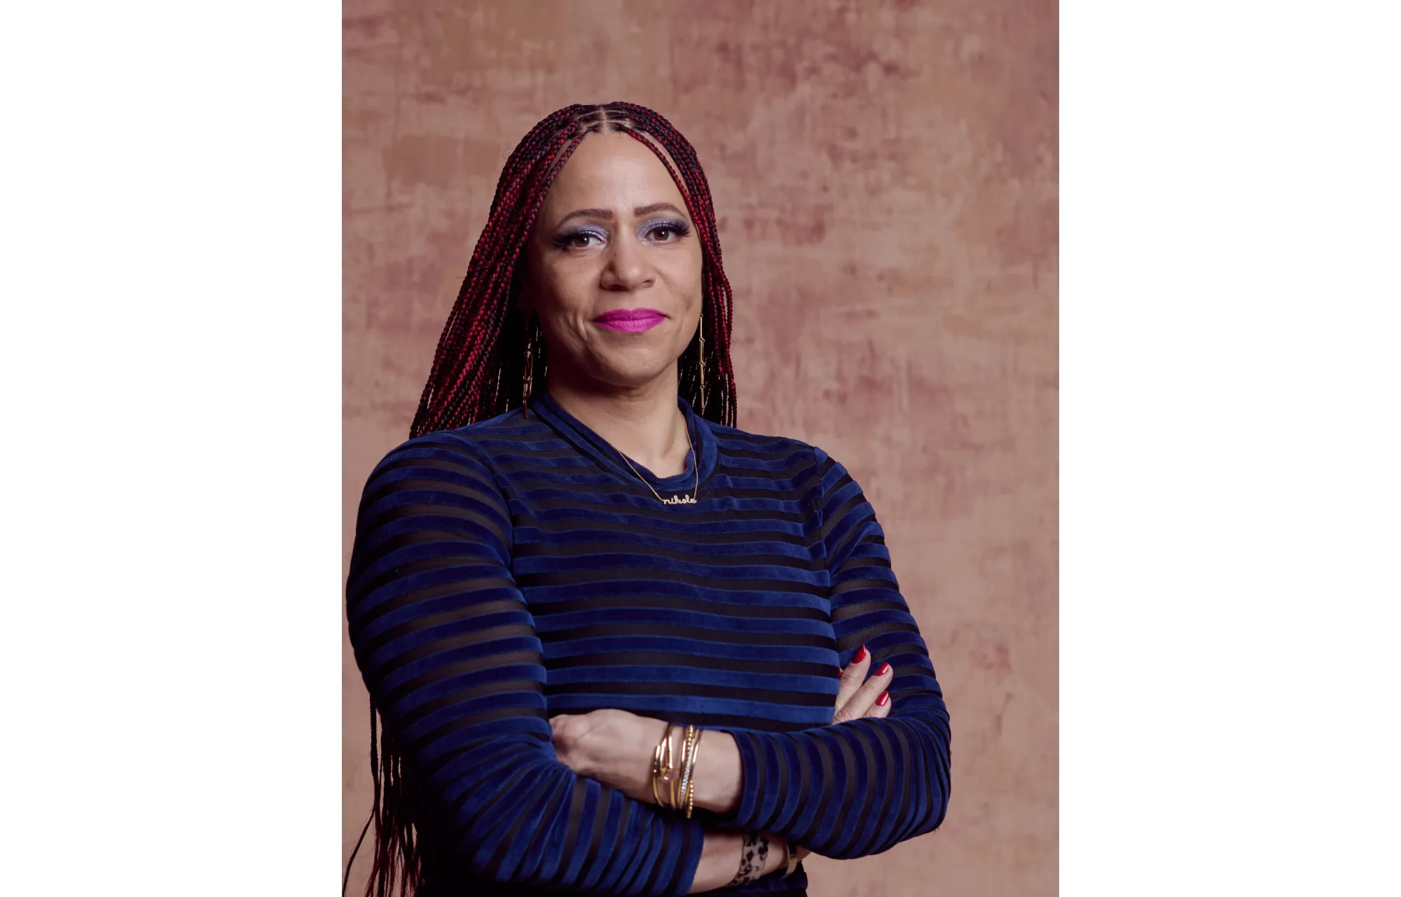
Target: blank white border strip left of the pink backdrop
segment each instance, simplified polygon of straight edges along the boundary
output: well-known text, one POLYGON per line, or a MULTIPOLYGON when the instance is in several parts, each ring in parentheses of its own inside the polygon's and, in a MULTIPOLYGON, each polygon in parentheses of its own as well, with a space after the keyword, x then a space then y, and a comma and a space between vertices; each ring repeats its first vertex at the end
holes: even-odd
POLYGON ((0 35, 0 890, 332 893, 340 7, 0 35))

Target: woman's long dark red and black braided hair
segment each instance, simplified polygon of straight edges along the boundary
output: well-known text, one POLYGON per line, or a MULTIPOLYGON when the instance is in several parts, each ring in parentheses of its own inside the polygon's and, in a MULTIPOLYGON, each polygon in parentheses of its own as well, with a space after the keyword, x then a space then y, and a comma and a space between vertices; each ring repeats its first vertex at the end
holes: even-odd
MULTIPOLYGON (((677 388, 702 418, 734 426, 734 371, 730 366, 733 293, 720 265, 710 185, 691 143, 665 118, 630 102, 572 105, 548 115, 516 146, 496 184, 492 212, 476 241, 467 278, 448 314, 433 356, 433 369, 413 415, 410 437, 485 420, 521 405, 525 364, 544 378, 545 343, 539 322, 520 308, 524 248, 539 206, 559 170, 584 137, 625 133, 656 153, 671 174, 700 240, 700 328, 678 359, 677 388), (670 157, 670 158, 668 158, 670 157), (703 332, 702 332, 703 331, 703 332), (700 370, 705 339, 705 371, 700 370), (702 376, 703 374, 703 376, 702 376), (708 388, 702 390, 700 384, 708 388)), ((406 803, 405 768, 392 736, 375 725, 370 702, 370 774, 374 803, 360 841, 346 863, 342 894, 350 882, 366 833, 374 826, 374 865, 367 897, 413 894, 420 884, 422 852, 406 803)))

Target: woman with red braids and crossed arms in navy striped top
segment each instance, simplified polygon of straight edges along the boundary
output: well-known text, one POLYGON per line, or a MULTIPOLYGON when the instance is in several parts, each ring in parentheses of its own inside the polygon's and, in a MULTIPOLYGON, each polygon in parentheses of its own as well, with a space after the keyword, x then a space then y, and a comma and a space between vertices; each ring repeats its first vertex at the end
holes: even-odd
POLYGON ((360 505, 371 893, 801 894, 804 852, 943 821, 948 713, 881 527, 824 451, 734 429, 730 311, 665 119, 521 140, 360 505))

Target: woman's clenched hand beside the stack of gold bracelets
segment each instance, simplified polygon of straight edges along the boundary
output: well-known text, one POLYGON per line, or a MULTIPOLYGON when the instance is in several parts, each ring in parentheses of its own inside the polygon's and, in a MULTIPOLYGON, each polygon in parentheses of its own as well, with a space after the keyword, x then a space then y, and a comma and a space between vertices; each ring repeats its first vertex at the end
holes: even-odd
POLYGON ((651 755, 667 723, 628 711, 560 713, 549 720, 559 761, 622 793, 656 803, 651 796, 651 755))

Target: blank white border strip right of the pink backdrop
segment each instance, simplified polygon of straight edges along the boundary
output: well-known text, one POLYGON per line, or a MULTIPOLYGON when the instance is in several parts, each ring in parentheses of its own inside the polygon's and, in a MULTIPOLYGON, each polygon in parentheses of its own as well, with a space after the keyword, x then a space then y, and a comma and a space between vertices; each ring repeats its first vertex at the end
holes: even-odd
POLYGON ((1062 7, 1062 891, 1401 893, 1397 7, 1062 7))

